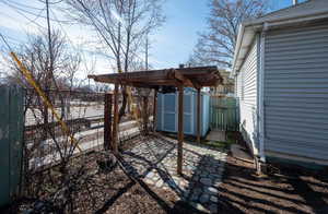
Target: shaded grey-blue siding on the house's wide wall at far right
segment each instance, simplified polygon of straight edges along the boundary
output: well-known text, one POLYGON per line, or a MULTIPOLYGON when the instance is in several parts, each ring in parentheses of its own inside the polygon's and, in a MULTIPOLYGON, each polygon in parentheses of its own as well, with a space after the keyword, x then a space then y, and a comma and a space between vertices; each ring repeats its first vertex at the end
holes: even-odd
POLYGON ((328 159, 328 24, 268 32, 265 151, 328 159))

